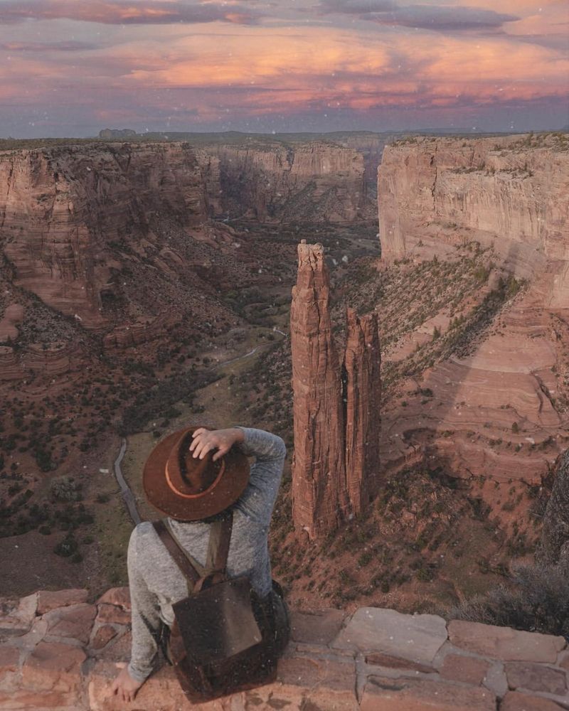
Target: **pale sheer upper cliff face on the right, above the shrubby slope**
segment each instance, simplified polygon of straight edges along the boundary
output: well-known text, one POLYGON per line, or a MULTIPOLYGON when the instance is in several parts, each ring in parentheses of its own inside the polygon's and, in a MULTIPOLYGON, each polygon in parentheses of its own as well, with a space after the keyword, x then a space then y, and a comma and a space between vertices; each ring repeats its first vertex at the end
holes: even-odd
POLYGON ((385 146, 378 171, 382 258, 465 238, 517 273, 569 259, 569 152, 531 137, 418 137, 385 146))

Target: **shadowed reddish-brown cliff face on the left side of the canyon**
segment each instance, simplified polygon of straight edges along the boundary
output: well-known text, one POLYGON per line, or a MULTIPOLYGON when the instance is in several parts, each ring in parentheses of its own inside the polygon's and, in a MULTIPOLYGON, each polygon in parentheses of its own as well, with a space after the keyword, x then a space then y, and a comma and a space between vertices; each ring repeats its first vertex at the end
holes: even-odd
POLYGON ((208 217, 210 165, 186 144, 87 144, 0 154, 0 249, 14 284, 105 328, 119 296, 112 248, 140 251, 156 212, 192 226, 208 217))

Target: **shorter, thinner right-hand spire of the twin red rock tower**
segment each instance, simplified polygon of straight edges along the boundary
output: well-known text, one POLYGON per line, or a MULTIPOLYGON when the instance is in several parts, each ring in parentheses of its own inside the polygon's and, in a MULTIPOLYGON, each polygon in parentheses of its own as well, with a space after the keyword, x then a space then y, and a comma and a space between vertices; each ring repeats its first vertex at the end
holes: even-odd
POLYGON ((379 488, 381 355, 378 317, 346 309, 346 483, 351 513, 361 513, 379 488))

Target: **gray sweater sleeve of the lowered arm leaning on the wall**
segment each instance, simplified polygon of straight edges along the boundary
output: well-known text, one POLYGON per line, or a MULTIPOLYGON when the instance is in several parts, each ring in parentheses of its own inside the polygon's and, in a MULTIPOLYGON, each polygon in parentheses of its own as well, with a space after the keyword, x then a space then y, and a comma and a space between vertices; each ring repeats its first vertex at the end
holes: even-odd
POLYGON ((144 681, 154 668, 161 626, 158 598, 149 591, 142 577, 142 562, 137 552, 137 528, 134 528, 129 541, 127 566, 132 605, 132 653, 128 669, 135 681, 144 681))

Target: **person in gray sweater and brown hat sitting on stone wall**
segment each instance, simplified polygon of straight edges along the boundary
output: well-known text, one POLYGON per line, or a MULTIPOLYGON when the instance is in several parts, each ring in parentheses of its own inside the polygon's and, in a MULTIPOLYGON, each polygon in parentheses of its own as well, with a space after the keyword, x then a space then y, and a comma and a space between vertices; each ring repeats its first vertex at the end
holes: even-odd
MULTIPOLYGON (((286 454, 281 437, 262 429, 188 427, 161 440, 144 465, 144 490, 149 503, 168 515, 165 523, 170 532, 199 564, 206 565, 211 523, 218 520, 220 513, 233 510, 228 575, 247 575, 255 592, 265 600, 275 595, 267 536, 286 454), (189 442, 189 447, 185 442, 189 442), (172 485, 167 466, 176 443, 183 456, 193 459, 207 458, 216 462, 233 447, 233 451, 242 455, 254 456, 255 463, 249 469, 243 457, 245 474, 225 466, 223 474, 227 474, 228 481, 223 494, 213 496, 212 491, 212 496, 184 497, 179 488, 172 485)), ((132 653, 129 664, 124 665, 112 683, 112 693, 125 702, 134 700, 154 670, 164 633, 167 638, 174 624, 172 605, 188 596, 187 579, 149 521, 139 523, 132 531, 127 566, 132 604, 132 653)))

